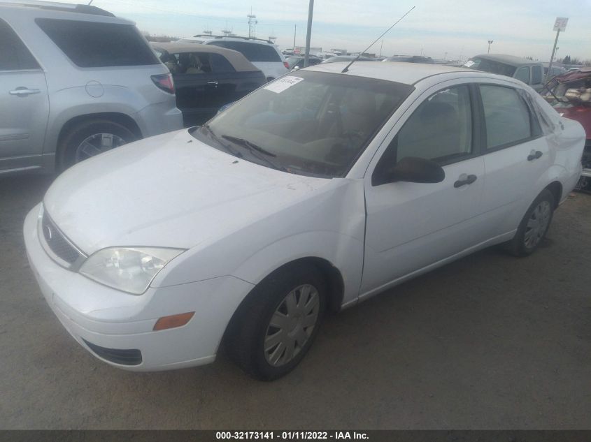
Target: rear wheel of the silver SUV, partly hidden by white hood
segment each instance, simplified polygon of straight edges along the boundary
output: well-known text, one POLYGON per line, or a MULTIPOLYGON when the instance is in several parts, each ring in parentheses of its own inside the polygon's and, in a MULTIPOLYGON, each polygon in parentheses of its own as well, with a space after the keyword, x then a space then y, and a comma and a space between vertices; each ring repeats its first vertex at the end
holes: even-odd
POLYGON ((59 170, 66 170, 90 156, 137 139, 136 134, 115 121, 106 119, 84 121, 71 128, 60 140, 57 149, 59 170))

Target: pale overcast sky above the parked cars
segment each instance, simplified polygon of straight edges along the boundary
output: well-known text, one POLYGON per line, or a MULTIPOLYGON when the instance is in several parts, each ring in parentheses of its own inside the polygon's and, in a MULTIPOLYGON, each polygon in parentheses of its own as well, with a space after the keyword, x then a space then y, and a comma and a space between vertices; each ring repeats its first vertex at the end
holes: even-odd
MULTIPOLYGON (((76 1, 73 1, 76 2, 76 1)), ((99 6, 137 23, 151 34, 190 36, 210 29, 248 35, 246 14, 257 15, 257 36, 276 36, 281 48, 306 39, 307 0, 94 0, 99 6)), ((569 17, 560 34, 557 57, 591 59, 591 0, 316 0, 312 46, 363 50, 415 6, 383 38, 382 54, 427 54, 466 59, 487 52, 532 56, 548 61, 556 17, 569 17)), ((380 52, 380 41, 369 52, 380 52)))

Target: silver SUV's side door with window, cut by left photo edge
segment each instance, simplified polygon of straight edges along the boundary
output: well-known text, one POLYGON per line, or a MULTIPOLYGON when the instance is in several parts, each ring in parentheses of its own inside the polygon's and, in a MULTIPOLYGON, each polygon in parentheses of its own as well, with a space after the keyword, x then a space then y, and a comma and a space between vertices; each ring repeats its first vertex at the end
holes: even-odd
POLYGON ((48 115, 45 74, 0 19, 0 173, 41 164, 48 115))

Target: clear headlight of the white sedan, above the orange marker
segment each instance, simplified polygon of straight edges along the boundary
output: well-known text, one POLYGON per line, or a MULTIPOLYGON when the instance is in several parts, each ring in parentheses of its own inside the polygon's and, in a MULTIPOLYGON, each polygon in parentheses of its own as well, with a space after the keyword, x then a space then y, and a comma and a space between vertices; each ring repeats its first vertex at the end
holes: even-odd
POLYGON ((156 274, 184 249, 159 247, 109 247, 91 255, 80 274, 106 286, 141 295, 156 274))

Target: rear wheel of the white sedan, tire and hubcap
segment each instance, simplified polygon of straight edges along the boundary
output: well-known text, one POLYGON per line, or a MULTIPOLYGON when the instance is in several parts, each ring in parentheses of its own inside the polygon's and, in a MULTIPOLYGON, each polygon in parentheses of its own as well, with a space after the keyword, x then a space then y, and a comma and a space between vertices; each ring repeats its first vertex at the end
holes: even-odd
POLYGON ((514 256, 534 253, 548 232, 555 207, 553 194, 548 189, 541 191, 525 212, 515 237, 507 243, 508 251, 514 256))

